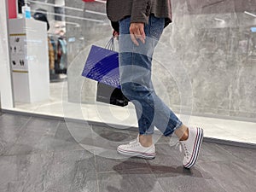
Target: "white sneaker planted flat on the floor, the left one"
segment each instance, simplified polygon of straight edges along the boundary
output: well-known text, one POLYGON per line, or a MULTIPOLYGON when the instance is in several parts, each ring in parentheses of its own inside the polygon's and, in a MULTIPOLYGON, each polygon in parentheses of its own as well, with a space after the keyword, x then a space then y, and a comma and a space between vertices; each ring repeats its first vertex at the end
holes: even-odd
POLYGON ((129 144, 119 145, 117 148, 119 154, 125 156, 136 156, 143 159, 154 159, 155 157, 155 148, 154 144, 150 147, 145 148, 139 143, 139 137, 135 141, 130 142, 129 144))

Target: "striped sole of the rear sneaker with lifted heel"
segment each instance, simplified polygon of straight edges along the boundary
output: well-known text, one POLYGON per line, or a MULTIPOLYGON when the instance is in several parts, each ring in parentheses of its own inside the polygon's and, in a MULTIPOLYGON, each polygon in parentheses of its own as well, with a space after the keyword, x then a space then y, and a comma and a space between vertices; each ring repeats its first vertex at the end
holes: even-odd
POLYGON ((195 146, 193 149, 193 153, 192 153, 192 158, 189 160, 189 163, 187 163, 184 167, 189 169, 192 166, 195 165, 195 162, 198 158, 198 154, 200 152, 201 149, 201 143, 202 143, 202 139, 203 139, 203 130, 201 128, 197 128, 197 136, 195 138, 195 146))

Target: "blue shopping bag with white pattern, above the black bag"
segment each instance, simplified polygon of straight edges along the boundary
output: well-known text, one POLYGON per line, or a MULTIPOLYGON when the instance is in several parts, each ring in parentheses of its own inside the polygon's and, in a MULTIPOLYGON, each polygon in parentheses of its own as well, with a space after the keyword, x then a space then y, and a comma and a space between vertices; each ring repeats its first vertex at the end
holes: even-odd
POLYGON ((120 89, 118 52, 92 45, 82 75, 120 89))

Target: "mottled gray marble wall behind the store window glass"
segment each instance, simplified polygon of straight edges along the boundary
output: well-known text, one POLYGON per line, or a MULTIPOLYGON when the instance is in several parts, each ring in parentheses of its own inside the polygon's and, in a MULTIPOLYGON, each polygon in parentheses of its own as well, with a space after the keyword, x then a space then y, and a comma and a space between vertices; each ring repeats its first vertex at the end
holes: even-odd
MULTIPOLYGON (((105 12, 102 3, 66 1, 66 6, 105 12)), ((256 0, 173 1, 172 25, 155 50, 154 79, 165 85, 156 86, 157 92, 174 111, 183 106, 192 107, 195 114, 256 118, 256 33, 250 31, 256 18, 243 13, 256 14, 255 7, 256 0), (186 77, 177 76, 178 70, 186 77), (184 79, 189 79, 192 89, 187 98, 181 97, 179 87, 184 79)), ((73 10, 67 15, 102 20, 66 18, 80 25, 67 26, 67 39, 76 39, 67 45, 69 100, 92 103, 96 83, 80 74, 90 44, 103 46, 111 27, 104 15, 73 10)))

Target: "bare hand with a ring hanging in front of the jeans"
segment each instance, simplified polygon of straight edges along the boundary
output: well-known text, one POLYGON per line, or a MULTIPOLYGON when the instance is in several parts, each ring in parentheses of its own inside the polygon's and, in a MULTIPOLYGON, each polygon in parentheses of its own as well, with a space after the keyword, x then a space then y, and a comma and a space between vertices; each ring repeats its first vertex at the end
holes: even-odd
POLYGON ((131 41, 139 46, 137 39, 139 39, 143 44, 145 44, 145 32, 144 23, 131 23, 130 26, 131 41))

